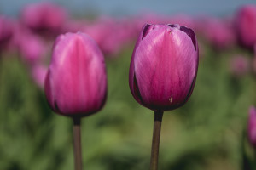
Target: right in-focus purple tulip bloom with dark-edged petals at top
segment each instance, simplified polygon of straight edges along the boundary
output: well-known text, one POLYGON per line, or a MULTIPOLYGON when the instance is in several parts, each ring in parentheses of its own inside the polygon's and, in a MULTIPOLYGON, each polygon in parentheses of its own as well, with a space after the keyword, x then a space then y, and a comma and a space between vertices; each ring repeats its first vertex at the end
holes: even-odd
POLYGON ((180 107, 192 94, 198 60, 198 45, 191 29, 143 26, 131 58, 131 94, 154 111, 180 107))

